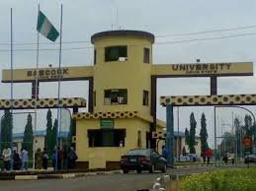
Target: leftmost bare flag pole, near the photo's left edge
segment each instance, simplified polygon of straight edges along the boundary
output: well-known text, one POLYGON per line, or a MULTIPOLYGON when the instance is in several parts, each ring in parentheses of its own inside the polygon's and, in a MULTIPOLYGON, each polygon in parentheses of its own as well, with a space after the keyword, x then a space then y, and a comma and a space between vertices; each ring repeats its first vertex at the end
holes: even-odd
POLYGON ((13 8, 11 8, 11 169, 13 169, 13 8))

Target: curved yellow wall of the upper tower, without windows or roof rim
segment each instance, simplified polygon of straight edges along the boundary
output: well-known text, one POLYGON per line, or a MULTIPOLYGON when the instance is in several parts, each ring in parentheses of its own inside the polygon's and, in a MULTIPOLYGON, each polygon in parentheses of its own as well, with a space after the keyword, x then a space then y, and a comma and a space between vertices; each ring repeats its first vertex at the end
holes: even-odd
POLYGON ((151 41, 136 36, 105 36, 95 41, 97 50, 97 64, 94 68, 94 91, 96 91, 95 111, 124 111, 136 110, 150 114, 150 64, 143 63, 143 47, 150 49, 151 41), (141 45, 143 44, 143 45, 141 45), (114 45, 128 45, 128 60, 105 62, 105 47, 114 45), (127 105, 105 105, 104 90, 128 89, 127 105), (149 104, 142 105, 142 91, 149 92, 149 104))

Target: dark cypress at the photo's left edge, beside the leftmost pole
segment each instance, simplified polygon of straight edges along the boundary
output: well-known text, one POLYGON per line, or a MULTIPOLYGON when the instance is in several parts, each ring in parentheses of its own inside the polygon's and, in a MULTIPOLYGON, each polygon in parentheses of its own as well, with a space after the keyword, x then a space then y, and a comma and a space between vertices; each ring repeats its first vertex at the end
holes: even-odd
POLYGON ((13 117, 9 109, 4 111, 4 117, 1 121, 1 148, 11 147, 13 117))

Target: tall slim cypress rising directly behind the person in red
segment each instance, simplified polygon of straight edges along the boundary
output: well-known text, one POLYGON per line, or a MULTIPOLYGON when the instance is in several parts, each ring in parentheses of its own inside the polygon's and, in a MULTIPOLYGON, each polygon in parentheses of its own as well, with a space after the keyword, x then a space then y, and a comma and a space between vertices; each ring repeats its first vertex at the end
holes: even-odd
POLYGON ((209 149, 207 119, 206 119, 205 113, 202 113, 202 117, 201 117, 200 141, 201 141, 201 153, 205 154, 206 151, 209 149))

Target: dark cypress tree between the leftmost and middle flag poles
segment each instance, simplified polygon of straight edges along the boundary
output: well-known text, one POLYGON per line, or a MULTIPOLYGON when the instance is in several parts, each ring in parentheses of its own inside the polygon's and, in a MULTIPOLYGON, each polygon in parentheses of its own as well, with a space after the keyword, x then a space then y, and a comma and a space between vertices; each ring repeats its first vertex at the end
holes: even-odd
POLYGON ((26 149, 29 152, 29 158, 33 158, 33 125, 32 125, 32 115, 29 114, 27 118, 27 124, 24 131, 22 148, 26 149))

